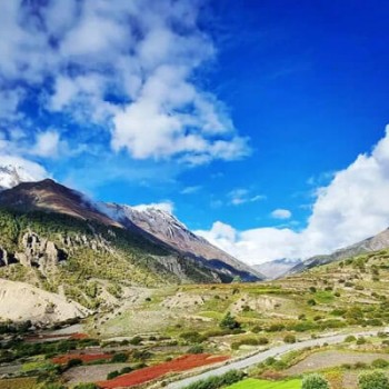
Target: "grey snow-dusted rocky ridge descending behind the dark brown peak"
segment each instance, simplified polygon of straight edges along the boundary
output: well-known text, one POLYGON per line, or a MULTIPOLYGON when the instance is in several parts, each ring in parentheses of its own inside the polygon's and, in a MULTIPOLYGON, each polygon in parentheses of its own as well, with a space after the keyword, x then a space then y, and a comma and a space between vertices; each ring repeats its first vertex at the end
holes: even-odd
POLYGON ((208 266, 231 277, 239 276, 245 281, 265 279, 265 276, 233 258, 223 250, 212 246, 208 240, 191 232, 181 221, 171 213, 161 209, 109 203, 104 205, 107 215, 118 222, 131 228, 137 226, 158 240, 173 247, 190 258, 206 261, 208 266))

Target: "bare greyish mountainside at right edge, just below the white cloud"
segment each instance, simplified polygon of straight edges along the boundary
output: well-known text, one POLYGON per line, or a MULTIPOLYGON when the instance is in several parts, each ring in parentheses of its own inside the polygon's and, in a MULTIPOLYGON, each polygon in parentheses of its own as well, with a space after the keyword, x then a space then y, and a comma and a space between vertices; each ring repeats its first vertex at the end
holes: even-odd
POLYGON ((307 269, 315 268, 317 266, 331 263, 341 259, 362 255, 365 252, 378 251, 387 248, 389 248, 389 228, 376 235, 375 237, 365 239, 358 243, 348 246, 343 249, 339 249, 331 255, 316 256, 316 257, 309 258, 303 262, 298 263, 297 266, 291 268, 288 271, 288 273, 293 275, 307 269))

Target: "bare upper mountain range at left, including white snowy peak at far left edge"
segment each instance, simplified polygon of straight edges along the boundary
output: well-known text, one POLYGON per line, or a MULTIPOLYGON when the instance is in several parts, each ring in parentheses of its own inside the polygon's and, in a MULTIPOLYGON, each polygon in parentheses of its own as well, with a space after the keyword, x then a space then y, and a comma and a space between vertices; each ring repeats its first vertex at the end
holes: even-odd
POLYGON ((3 187, 0 205, 4 207, 23 212, 43 210, 66 213, 82 220, 124 228, 142 235, 153 245, 173 250, 182 259, 194 261, 200 268, 217 271, 226 281, 237 276, 246 281, 265 279, 260 272, 196 236, 166 210, 94 202, 51 179, 37 181, 21 167, 2 166, 0 172, 3 187))

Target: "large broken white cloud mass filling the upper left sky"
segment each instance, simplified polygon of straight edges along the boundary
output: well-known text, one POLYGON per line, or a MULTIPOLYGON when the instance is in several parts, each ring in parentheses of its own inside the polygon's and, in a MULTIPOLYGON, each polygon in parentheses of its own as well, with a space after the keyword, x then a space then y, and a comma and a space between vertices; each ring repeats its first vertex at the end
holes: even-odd
MULTIPOLYGON (((103 128, 110 137, 104 144, 133 159, 201 164, 247 156, 248 139, 201 84, 201 69, 217 50, 199 28, 200 9, 197 0, 2 1, 6 114, 33 89, 41 111, 103 128), (12 92, 13 83, 23 87, 12 92)), ((37 143, 40 157, 56 146, 53 133, 46 137, 37 143)))

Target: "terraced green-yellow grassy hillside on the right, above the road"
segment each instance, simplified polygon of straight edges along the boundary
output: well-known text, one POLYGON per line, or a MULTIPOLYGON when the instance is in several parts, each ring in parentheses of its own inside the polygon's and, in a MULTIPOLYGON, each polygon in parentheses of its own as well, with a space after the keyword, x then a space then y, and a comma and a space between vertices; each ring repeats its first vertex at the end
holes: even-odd
MULTIPOLYGON (((158 289, 150 301, 114 320, 124 320, 131 328, 137 312, 147 311, 156 320, 148 322, 144 331, 206 333, 218 329, 222 316, 231 311, 249 333, 226 339, 229 343, 248 336, 277 341, 290 332, 307 338, 323 331, 381 326, 389 322, 388 258, 388 251, 369 253, 266 283, 158 289), (256 328, 262 331, 251 333, 256 328)), ((104 325, 109 326, 110 321, 104 325)))

